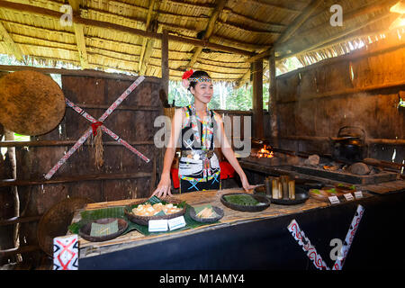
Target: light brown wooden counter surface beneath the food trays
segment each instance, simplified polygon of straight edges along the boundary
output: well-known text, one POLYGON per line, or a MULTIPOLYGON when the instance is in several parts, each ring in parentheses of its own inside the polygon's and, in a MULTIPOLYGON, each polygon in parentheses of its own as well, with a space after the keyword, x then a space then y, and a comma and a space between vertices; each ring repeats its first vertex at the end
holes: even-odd
MULTIPOLYGON (((275 203, 271 203, 270 207, 268 207, 264 211, 257 211, 257 212, 235 211, 229 209, 228 207, 225 207, 220 202, 221 195, 225 193, 245 193, 245 192, 243 189, 225 189, 219 191, 211 190, 203 192, 173 194, 173 196, 176 199, 185 201, 192 206, 209 203, 211 205, 220 207, 224 211, 224 217, 220 220, 220 222, 203 225, 194 229, 184 229, 179 231, 173 231, 170 233, 148 235, 148 236, 139 233, 139 231, 132 230, 129 233, 121 235, 118 238, 114 238, 112 240, 104 242, 90 242, 85 240, 84 238, 79 237, 80 258, 93 257, 129 247, 139 247, 142 245, 155 243, 158 241, 164 241, 166 239, 178 238, 184 235, 191 235, 193 233, 201 233, 206 230, 220 229, 223 227, 229 227, 231 225, 238 225, 239 223, 246 223, 248 221, 270 219, 284 215, 302 213, 314 209, 322 209, 331 206, 329 202, 320 202, 310 197, 307 200, 307 202, 298 205, 277 205, 275 203)), ((364 198, 372 196, 372 194, 370 193, 364 192, 363 194, 364 198)), ((147 200, 147 198, 145 198, 144 200, 147 200)), ((85 206, 84 210, 103 209, 114 206, 126 206, 134 201, 139 201, 139 199, 90 203, 85 206)), ((80 220, 81 211, 83 210, 76 211, 72 222, 80 220)))

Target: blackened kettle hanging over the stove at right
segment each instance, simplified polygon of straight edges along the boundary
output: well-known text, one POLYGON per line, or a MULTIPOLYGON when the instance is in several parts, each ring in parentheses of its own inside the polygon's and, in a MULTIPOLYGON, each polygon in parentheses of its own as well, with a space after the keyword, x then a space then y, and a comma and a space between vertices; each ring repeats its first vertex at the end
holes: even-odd
POLYGON ((355 163, 365 157, 365 130, 356 126, 344 126, 338 130, 337 138, 330 138, 332 157, 355 163))

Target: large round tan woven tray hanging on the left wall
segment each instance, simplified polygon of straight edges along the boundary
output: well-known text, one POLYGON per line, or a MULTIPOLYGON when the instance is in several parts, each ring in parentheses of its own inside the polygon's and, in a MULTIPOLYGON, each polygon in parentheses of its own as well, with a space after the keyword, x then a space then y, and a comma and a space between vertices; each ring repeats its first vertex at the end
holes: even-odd
POLYGON ((0 78, 0 123, 22 135, 53 130, 65 114, 65 96, 50 77, 18 71, 0 78))

